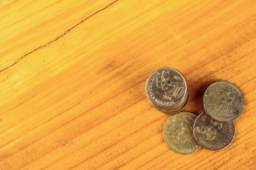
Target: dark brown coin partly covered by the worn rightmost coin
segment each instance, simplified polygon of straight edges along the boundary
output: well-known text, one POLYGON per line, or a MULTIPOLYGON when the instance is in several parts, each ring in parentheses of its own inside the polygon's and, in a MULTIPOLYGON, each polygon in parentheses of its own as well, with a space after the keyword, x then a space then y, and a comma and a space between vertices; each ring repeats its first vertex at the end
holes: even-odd
POLYGON ((235 125, 233 122, 215 122, 203 112, 195 120, 193 134, 202 147, 210 150, 221 150, 228 147, 233 141, 235 125))

